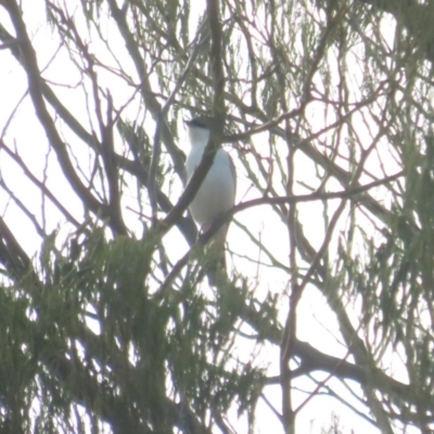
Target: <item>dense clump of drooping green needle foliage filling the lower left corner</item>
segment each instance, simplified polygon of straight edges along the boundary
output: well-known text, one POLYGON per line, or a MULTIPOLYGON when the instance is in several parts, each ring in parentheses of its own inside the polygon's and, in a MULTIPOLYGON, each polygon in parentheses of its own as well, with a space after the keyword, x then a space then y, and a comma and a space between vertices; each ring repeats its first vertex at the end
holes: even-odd
POLYGON ((163 414, 170 396, 204 419, 234 403, 253 410, 261 370, 231 354, 247 293, 228 288, 209 298, 186 285, 155 297, 146 286, 146 241, 107 241, 94 228, 80 237, 80 250, 72 258, 71 251, 56 251, 53 238, 41 256, 50 278, 0 292, 0 349, 8 355, 0 366, 2 432, 24 432, 35 422, 36 397, 36 423, 44 432, 53 431, 50 423, 74 426, 77 405, 104 416, 107 400, 111 411, 126 412, 108 418, 123 430, 127 418, 140 426, 149 416, 154 429, 168 430, 163 414))

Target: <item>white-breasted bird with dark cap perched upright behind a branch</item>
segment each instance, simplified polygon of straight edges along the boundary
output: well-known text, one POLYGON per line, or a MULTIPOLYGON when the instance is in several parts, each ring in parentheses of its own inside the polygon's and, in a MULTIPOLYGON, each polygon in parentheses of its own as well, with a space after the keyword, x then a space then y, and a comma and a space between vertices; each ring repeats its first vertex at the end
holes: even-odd
MULTIPOLYGON (((190 153, 186 161, 187 180, 193 176, 201 164, 204 150, 208 143, 214 118, 199 116, 184 120, 189 130, 190 153)), ((190 212, 202 232, 206 232, 222 214, 235 203, 237 173, 231 156, 224 149, 218 149, 213 165, 190 204, 190 212)), ((207 252, 212 258, 207 275, 208 282, 216 286, 221 276, 227 276, 225 242, 229 222, 226 222, 214 235, 207 252)))

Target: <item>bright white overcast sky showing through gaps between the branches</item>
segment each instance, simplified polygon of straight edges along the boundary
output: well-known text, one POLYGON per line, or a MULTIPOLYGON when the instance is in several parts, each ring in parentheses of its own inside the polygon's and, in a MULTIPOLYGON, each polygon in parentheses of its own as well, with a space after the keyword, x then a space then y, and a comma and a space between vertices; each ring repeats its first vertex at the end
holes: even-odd
MULTIPOLYGON (((197 2, 197 4, 201 2, 197 2)), ((37 49, 39 65, 41 68, 44 68, 58 50, 56 35, 51 34, 50 29, 44 25, 46 15, 43 1, 25 0, 23 1, 23 8, 25 11, 26 23, 27 25, 31 26, 29 34, 33 36, 33 42, 37 49), (30 15, 31 20, 29 18, 30 15)), ((12 28, 8 26, 9 22, 5 16, 7 15, 4 14, 4 11, 0 9, 0 22, 7 28, 12 30, 12 28)), ((113 38, 115 38, 115 34, 113 38)), ((116 43, 114 47, 116 48, 116 43)), ((91 49, 98 54, 100 54, 100 50, 105 51, 101 44, 94 42, 91 44, 91 49)), ((118 51, 119 53, 125 52, 124 42, 122 41, 118 42, 118 51)), ((107 53, 105 52, 104 55, 107 55, 107 53)), ((125 56, 125 54, 119 55, 125 56)), ((123 59, 123 62, 127 64, 129 60, 123 59)), ((55 60, 50 64, 43 76, 55 81, 56 84, 69 86, 65 87, 63 90, 58 86, 55 87, 55 91, 61 99, 68 99, 68 107, 72 107, 74 114, 79 119, 82 119, 87 125, 88 114, 81 112, 84 102, 82 92, 73 91, 75 88, 80 90, 80 77, 77 74, 77 71, 71 66, 71 61, 64 50, 61 50, 55 54, 55 60)), ((106 80, 107 87, 110 87, 110 90, 114 97, 114 101, 118 105, 122 105, 122 102, 125 103, 128 101, 133 93, 132 89, 128 89, 124 85, 119 85, 119 82, 113 80, 113 77, 108 74, 106 77, 104 77, 104 74, 101 73, 100 78, 103 82, 106 80)), ((9 55, 8 50, 0 51, 0 129, 3 128, 8 117, 10 116, 11 110, 15 107, 20 99, 23 97, 25 89, 26 79, 21 66, 18 66, 12 56, 9 55)), ((142 119, 143 111, 140 107, 140 100, 138 101, 138 103, 133 102, 131 107, 129 107, 126 113, 131 118, 142 119)), ((311 106, 311 110, 314 110, 314 106, 311 106)), ((320 107, 318 107, 318 110, 320 110, 320 107)), ((187 113, 184 117, 188 117, 187 113)), ((64 131, 64 135, 66 139, 71 137, 68 131, 64 131)), ((72 194, 69 187, 64 181, 62 174, 59 171, 59 168, 55 164, 54 153, 51 152, 48 154, 44 133, 38 125, 38 122, 35 119, 34 110, 28 99, 26 99, 25 102, 20 105, 18 111, 11 122, 11 126, 3 139, 10 146, 14 146, 16 143, 22 158, 25 162, 28 162, 29 166, 34 170, 34 174, 38 177, 42 175, 46 158, 49 158, 49 161, 52 162, 52 164, 49 165, 50 189, 58 197, 62 199, 63 203, 68 206, 68 209, 79 219, 82 215, 81 205, 75 195, 72 194)), ((260 146, 261 140, 266 140, 266 137, 255 138, 255 142, 257 143, 258 148, 260 146)), ((77 145, 74 148, 74 152, 76 152, 77 158, 82 158, 84 162, 87 162, 88 156, 86 146, 80 149, 79 142, 77 140, 75 140, 75 142, 77 145)), ((186 130, 181 130, 180 132, 179 146, 184 152, 188 152, 186 130)), ((230 150, 230 152, 237 161, 237 153, 233 150, 230 150)), ((312 163, 301 153, 296 162, 297 179, 306 183, 315 183, 315 186, 317 186, 312 163)), ((238 201, 257 197, 258 193, 257 191, 251 189, 251 181, 246 177, 241 164, 235 163, 235 165, 238 167, 239 177, 238 201)), ((370 167, 372 167, 373 173, 378 173, 379 167, 374 158, 372 158, 370 167)), ((31 186, 24 180, 21 171, 16 170, 16 166, 11 164, 4 152, 1 152, 0 154, 0 169, 4 180, 14 191, 14 193, 20 197, 25 199, 25 203, 27 205, 31 204, 31 207, 35 209, 35 214, 40 215, 40 193, 33 189, 31 186)), ((394 171, 395 167, 391 167, 390 174, 393 174, 394 171)), ((340 187, 336 182, 335 186, 336 190, 340 190, 340 187)), ((171 199, 174 201, 181 192, 181 189, 182 187, 180 182, 173 186, 171 199)), ((298 192, 305 193, 307 190, 299 187, 298 192)), ((135 194, 136 191, 133 186, 131 186, 128 191, 124 192, 125 206, 128 205, 128 197, 131 197, 131 203, 133 203, 135 194)), ((331 208, 335 207, 337 201, 331 203, 331 208)), ((25 246, 30 256, 35 255, 40 246, 38 237, 35 235, 35 231, 31 229, 31 227, 29 227, 23 214, 17 210, 16 206, 8 201, 8 196, 2 191, 0 192, 0 209, 2 215, 5 217, 7 222, 10 225, 11 230, 14 232, 22 245, 25 246)), ((321 244, 323 237, 323 228, 319 224, 322 220, 323 213, 321 204, 303 204, 298 209, 301 220, 303 221, 305 231, 308 233, 309 240, 314 240, 314 244, 316 244, 315 247, 318 247, 321 244)), ((130 228, 135 228, 135 225, 137 224, 137 230, 141 230, 141 225, 136 221, 137 217, 133 213, 129 213, 125 209, 125 219, 130 228)), ((285 226, 277 218, 276 214, 270 209, 270 207, 263 206, 260 208, 251 208, 237 215, 237 220, 252 228, 254 233, 260 232, 264 244, 270 246, 276 257, 278 257, 282 263, 288 264, 288 231, 285 226)), ((56 210, 50 206, 48 207, 47 222, 50 230, 54 230, 59 226, 62 228, 63 224, 63 220, 60 219, 56 210)), ((345 219, 342 219, 341 227, 344 227, 345 225, 345 219)), ((65 229, 64 235, 66 235, 66 231, 67 229, 65 229)), ((339 233, 339 230, 336 233, 339 233)), ((177 230, 173 230, 167 235, 165 242, 179 246, 176 250, 171 250, 173 260, 175 260, 177 256, 182 256, 188 248, 187 243, 182 240, 177 230)), ((251 255, 255 257, 255 253, 253 252, 257 252, 257 255, 258 250, 233 224, 230 227, 228 243, 229 248, 237 255, 241 256, 235 258, 235 268, 242 269, 245 276, 255 277, 257 271, 256 267, 243 259, 242 256, 251 255)), ((259 286, 257 289, 258 296, 260 296, 260 294, 265 294, 267 291, 277 291, 280 293, 282 290, 284 290, 286 281, 288 276, 283 272, 276 271, 271 268, 261 267, 258 282, 259 286)), ((288 301, 283 298, 282 303, 283 306, 281 309, 281 319, 284 320, 288 311, 288 301)), ((357 306, 354 309, 356 312, 358 310, 357 306)), ((336 357, 344 357, 346 355, 346 348, 339 342, 339 340, 336 340, 336 336, 340 336, 337 323, 334 317, 330 314, 330 309, 324 301, 324 297, 315 288, 309 286, 305 292, 298 307, 298 339, 309 342, 312 346, 321 352, 336 357)), ((248 345, 245 342, 240 341, 238 348, 240 355, 245 352, 247 347, 248 345)), ((266 352, 261 353, 260 357, 264 358, 263 362, 266 366, 269 366, 270 375, 277 375, 279 373, 278 348, 267 348, 266 352)), ((391 366, 394 366, 392 361, 391 366)), ((327 376, 328 375, 322 372, 315 373, 315 378, 317 379, 326 379, 327 376)), ((311 388, 311 382, 307 379, 297 380, 295 384, 302 390, 311 388)), ((341 382, 333 379, 329 381, 328 384, 334 390, 341 391, 342 396, 357 406, 355 399, 348 392, 344 390, 344 386, 341 382)), ((358 390, 357 386, 355 388, 358 390)), ((307 395, 303 393, 294 393, 294 397, 295 400, 301 404, 304 401, 304 399, 306 399, 307 395)), ((279 386, 267 387, 267 398, 280 411, 281 405, 279 386)), ((361 406, 357 406, 357 408, 362 409, 361 406)), ((344 404, 339 403, 336 399, 327 397, 316 397, 304 408, 297 418, 297 432, 320 433, 321 427, 330 426, 333 413, 337 414, 340 419, 340 426, 343 432, 349 433, 352 430, 356 434, 374 434, 379 432, 362 418, 357 418, 354 412, 348 410, 344 404)), ((233 419, 237 419, 235 411, 233 413, 233 419)), ((235 422, 235 426, 237 423, 239 423, 240 426, 244 426, 245 421, 240 420, 239 422, 235 422)), ((260 401, 258 406, 257 425, 258 433, 282 432, 280 422, 277 421, 276 417, 271 413, 264 401, 260 401)))

